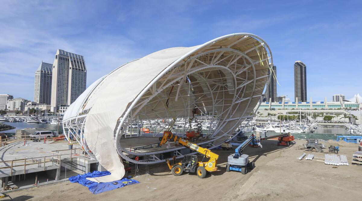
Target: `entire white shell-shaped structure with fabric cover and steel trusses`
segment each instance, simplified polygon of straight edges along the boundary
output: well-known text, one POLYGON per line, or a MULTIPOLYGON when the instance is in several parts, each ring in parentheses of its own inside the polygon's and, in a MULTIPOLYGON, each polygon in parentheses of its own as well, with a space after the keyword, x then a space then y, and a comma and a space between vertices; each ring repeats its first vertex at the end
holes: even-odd
POLYGON ((215 148, 231 140, 235 129, 254 115, 272 65, 268 44, 250 33, 229 34, 189 48, 160 50, 125 63, 90 85, 66 111, 64 134, 111 172, 92 179, 97 182, 123 177, 120 157, 137 164, 164 163, 160 154, 183 157, 185 147, 135 153, 132 147, 150 144, 150 140, 159 142, 167 128, 132 135, 128 128, 135 121, 157 124, 157 119, 170 123, 170 119, 184 118, 183 129, 188 131, 189 118, 197 108, 199 116, 214 125, 198 144, 215 148), (125 140, 131 145, 122 144, 125 140), (142 160, 131 159, 134 155, 142 160))

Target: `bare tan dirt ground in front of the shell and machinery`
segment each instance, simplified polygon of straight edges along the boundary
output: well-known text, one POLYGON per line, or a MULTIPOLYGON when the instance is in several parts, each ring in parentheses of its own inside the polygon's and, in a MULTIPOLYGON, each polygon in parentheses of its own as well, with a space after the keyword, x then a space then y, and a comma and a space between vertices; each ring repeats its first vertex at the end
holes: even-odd
MULTIPOLYGON (((247 201, 320 201, 361 200, 362 167, 325 165, 324 160, 298 160, 303 150, 298 149, 305 140, 296 140, 290 147, 276 146, 277 141, 262 142, 263 148, 247 147, 245 154, 256 168, 242 175, 226 172, 227 156, 219 154, 219 170, 199 179, 193 173, 175 177, 166 164, 150 169, 150 175, 134 178, 140 184, 125 186, 109 192, 91 194, 87 187, 77 183, 63 183, 8 193, 14 201, 98 201, 98 200, 247 200, 247 201), (148 188, 150 187, 150 188, 148 188), (152 189, 155 188, 155 189, 152 189)), ((340 147, 340 154, 351 160, 358 145, 340 147)), ((324 149, 328 152, 328 149, 324 149)), ((324 153, 313 152, 324 157, 324 153)), ((2 200, 11 200, 9 197, 2 200)))

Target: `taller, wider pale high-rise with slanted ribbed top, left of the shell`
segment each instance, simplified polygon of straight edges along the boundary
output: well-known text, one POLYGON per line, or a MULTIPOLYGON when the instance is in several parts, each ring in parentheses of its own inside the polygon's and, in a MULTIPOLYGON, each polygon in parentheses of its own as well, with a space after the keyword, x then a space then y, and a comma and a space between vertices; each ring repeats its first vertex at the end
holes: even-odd
POLYGON ((86 83, 84 57, 58 49, 52 70, 51 111, 73 103, 85 90, 86 83))

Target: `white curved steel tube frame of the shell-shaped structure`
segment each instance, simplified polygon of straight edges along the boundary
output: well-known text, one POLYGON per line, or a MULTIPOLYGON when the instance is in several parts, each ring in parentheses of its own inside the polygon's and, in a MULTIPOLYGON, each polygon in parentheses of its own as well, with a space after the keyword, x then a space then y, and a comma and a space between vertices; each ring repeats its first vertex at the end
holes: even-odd
MULTIPOLYGON (((153 151, 153 152, 146 152, 146 153, 137 153, 138 156, 152 156, 153 159, 152 160, 147 160, 147 161, 135 161, 135 160, 132 160, 130 159, 129 157, 127 157, 124 153, 127 153, 127 154, 130 154, 130 155, 134 155, 134 152, 130 152, 128 151, 127 149, 123 148, 121 146, 121 139, 122 139, 122 136, 126 137, 126 134, 125 134, 125 130, 122 130, 121 128, 125 128, 126 125, 128 125, 129 123, 132 122, 132 119, 135 118, 135 116, 138 114, 138 112, 140 112, 140 110, 142 108, 144 108, 144 106, 146 106, 148 104, 148 102, 150 102, 150 100, 152 100, 152 98, 155 98, 157 97, 157 95, 164 89, 166 89, 167 87, 173 85, 176 81, 180 81, 182 79, 184 79, 184 77, 186 75, 190 75, 190 74, 197 74, 198 72, 200 71, 212 71, 212 70, 222 70, 224 73, 225 72, 228 72, 230 73, 231 77, 232 78, 232 82, 233 82, 233 86, 234 86, 234 97, 232 99, 232 104, 231 106, 229 107, 230 109, 224 111, 224 106, 222 107, 222 113, 223 112, 227 112, 227 115, 226 116, 229 116, 229 118, 224 118, 220 121, 218 121, 218 126, 216 127, 215 131, 213 132, 213 134, 211 134, 211 138, 210 140, 207 140, 207 141, 204 141, 202 143, 198 143, 199 145, 202 145, 202 144, 207 144, 207 146, 209 148, 215 148, 215 147, 218 147, 220 145, 219 144, 213 144, 213 142, 215 142, 216 140, 218 139, 221 139, 221 138, 225 138, 226 136, 227 137, 231 137, 229 139, 225 139, 224 141, 230 141, 233 137, 236 136, 235 135, 230 135, 228 133, 231 133, 232 131, 235 130, 235 128, 237 126, 239 126, 239 124, 241 124, 241 121, 247 117, 250 117, 249 121, 247 122, 247 124, 244 125, 243 128, 245 128, 245 126, 248 125, 248 123, 250 122, 251 118, 255 115, 256 111, 253 112, 253 114, 251 116, 245 116, 245 112, 248 110, 248 107, 249 107, 249 104, 251 103, 252 101, 252 98, 256 98, 256 97, 260 97, 260 95, 257 95, 257 96, 254 96, 254 89, 255 89, 255 86, 256 86, 256 81, 257 79, 260 79, 260 78, 264 78, 265 76, 263 77, 259 77, 257 78, 256 77, 256 71, 255 71, 255 64, 259 63, 259 62, 263 62, 264 60, 260 60, 260 61, 255 61, 255 60, 252 60, 251 58, 249 58, 247 56, 246 53, 244 52, 240 52, 236 49, 232 49, 230 48, 230 46, 234 45, 234 44, 230 44, 227 48, 219 48, 219 49, 213 49, 213 50, 210 50, 210 51, 207 51, 207 52, 203 52, 201 54, 198 54, 194 57, 191 57, 189 58, 189 55, 196 52, 197 50, 201 49, 201 48, 204 48, 205 46, 208 46, 210 44, 213 44, 215 43, 216 41, 219 41, 219 40, 222 40, 224 38, 227 38, 227 37, 231 37, 231 36, 245 36, 245 37, 252 37, 254 39, 256 39, 257 41, 260 42, 260 44, 258 46, 263 46, 265 48, 265 50, 267 51, 266 54, 268 55, 267 58, 265 58, 264 60, 266 60, 268 62, 268 65, 269 63, 272 64, 273 63, 273 59, 272 59, 272 54, 271 54, 271 51, 270 51, 270 48, 268 46, 268 44, 266 44, 266 42, 264 40, 262 40, 260 37, 254 35, 254 34, 249 34, 249 33, 237 33, 237 34, 230 34, 230 35, 226 35, 226 36, 222 36, 222 37, 219 37, 219 38, 216 38, 212 41, 209 41, 201 46, 199 46, 197 49, 194 49, 193 51, 185 54, 184 56, 180 57, 177 61, 173 62, 171 65, 169 65, 166 69, 164 69, 159 75, 157 75, 157 77, 155 79, 153 79, 152 82, 150 82, 139 94, 138 96, 134 99, 134 101, 131 103, 131 105, 127 108, 127 111, 125 112, 125 114, 120 118, 120 123, 118 124, 118 127, 117 127, 117 131, 116 131, 116 134, 115 134, 115 146, 117 148, 117 151, 118 151, 118 154, 120 156, 122 156, 125 160, 129 161, 129 162, 132 162, 132 163, 138 163, 138 164, 155 164, 155 163, 161 163, 163 162, 164 160, 160 160, 159 158, 157 158, 155 155, 156 154, 160 154, 160 153, 167 153, 167 152, 174 152, 177 156, 177 158, 180 158, 180 157, 183 157, 180 152, 178 150, 180 149, 184 149, 184 147, 178 147, 178 148, 171 148, 171 149, 165 149, 165 150, 160 150, 160 151, 153 151), (226 58, 223 58, 223 59, 220 59, 220 55, 222 55, 224 52, 229 52, 231 53, 229 56, 233 55, 233 56, 236 56, 236 59, 232 60, 231 61, 234 61, 235 62, 235 65, 236 65, 236 60, 238 60, 239 58, 242 58, 244 60, 244 64, 246 64, 248 61, 249 62, 249 65, 248 66, 244 66, 245 68, 242 68, 241 72, 238 71, 238 72, 233 72, 229 67, 231 66, 231 64, 233 65, 234 63, 231 63, 230 65, 215 65, 221 61, 225 61, 226 58), (214 61, 215 59, 215 62, 214 63, 204 63, 202 61, 200 61, 199 59, 202 58, 203 56, 205 55, 209 55, 211 53, 214 53, 214 57, 212 58, 212 61, 214 61), (219 53, 219 54, 217 54, 219 53), (216 55, 218 55, 217 57, 215 57, 216 55), (182 60, 184 62, 182 62, 182 60), (221 60, 221 61, 220 61, 221 60), (246 61, 245 61, 246 60, 246 61), (216 62, 217 61, 217 62, 216 62), (180 63, 182 62, 182 63, 180 63), (198 66, 193 66, 194 65, 194 62, 197 62, 199 65, 198 66), (189 63, 189 68, 184 71, 179 71, 179 72, 176 72, 175 73, 175 70, 177 68, 181 68, 182 66, 187 66, 187 63, 189 63), (243 81, 243 83, 240 83, 238 84, 238 82, 240 81, 237 81, 237 79, 241 79, 239 77, 237 77, 237 75, 239 75, 240 73, 242 73, 243 71, 247 71, 247 69, 249 69, 250 67, 252 67, 252 71, 253 71, 253 77, 251 80, 248 80, 248 74, 246 75, 246 79, 243 81), (165 75, 168 75, 167 78, 165 79, 165 75), (166 81, 167 80, 171 80, 169 81, 167 84, 166 84, 166 81), (161 85, 161 87, 159 87, 159 89, 153 91, 153 94, 150 96, 150 97, 147 97, 146 99, 142 99, 143 95, 147 93, 147 91, 150 91, 152 88, 153 89, 156 89, 155 88, 155 85, 157 82, 159 81, 163 81, 163 84, 161 85), (249 83, 252 83, 253 85, 253 90, 252 90, 252 94, 250 97, 244 97, 244 93, 242 93, 241 97, 239 97, 239 94, 240 92, 243 90, 243 92, 245 92, 245 89, 246 89, 246 86, 248 86, 249 83), (239 89, 239 93, 237 94, 237 89, 239 89), (245 107, 243 113, 241 116, 237 116, 236 118, 234 117, 233 118, 233 115, 235 114, 236 112, 236 109, 234 111, 231 111, 233 106, 235 104, 237 104, 237 106, 240 105, 241 102, 243 101, 248 101, 247 103, 247 107, 245 107), (136 108, 136 110, 135 110, 136 108), (133 114, 132 114, 132 110, 133 111, 133 114), (222 128, 228 123, 229 120, 237 120, 237 122, 235 123, 234 126, 232 126, 228 131, 226 132, 222 132, 222 128)), ((134 60, 136 61, 136 60, 134 60)), ((212 62, 211 61, 211 62, 212 62)), ((133 61, 131 61, 133 62, 133 61)), ((127 63, 126 63, 127 64, 127 63)), ((125 65, 125 64, 124 64, 125 65)), ((112 72, 110 72, 108 75, 114 73, 115 71, 117 71, 118 69, 122 68, 124 65, 122 66, 119 66, 117 69, 113 70, 112 72)), ((184 69, 184 67, 182 67, 184 69)), ((236 70, 236 67, 235 67, 235 70, 236 70)), ((87 103, 87 100, 90 96, 90 94, 92 94, 93 90, 96 89, 96 87, 104 80, 104 79, 107 79, 108 75, 106 75, 102 80, 100 80, 94 87, 93 89, 90 91, 90 93, 87 95, 87 98, 85 98, 85 100, 83 101, 83 104, 82 104, 82 107, 84 104, 87 103)), ((197 76, 197 75, 196 75, 197 76)), ((202 76, 201 76, 202 78, 202 76)), ((269 79, 270 80, 270 79, 269 79)), ((206 81, 206 80, 205 80, 206 81)), ((230 79, 229 79, 230 81, 230 79)), ((207 85, 207 89, 209 90, 209 92, 211 91, 214 91, 216 88, 212 89, 209 85, 209 82, 205 82, 206 85, 207 85)), ((269 85, 269 83, 268 83, 269 85)), ((178 90, 180 90, 181 87, 178 87, 178 90)), ((218 89, 220 91, 220 87, 218 89)), ((230 89, 228 89, 230 90, 230 89)), ((228 90, 223 90, 222 92, 225 93, 226 91, 228 90)), ((152 91, 152 90, 151 90, 152 91)), ((178 93, 177 93, 178 94, 178 93)), ((205 94, 204 94, 205 95, 205 94)), ((212 101, 213 101, 213 109, 212 111, 215 111, 214 108, 215 108, 215 104, 216 104, 216 100, 214 100, 214 97, 211 95, 212 97, 212 101)), ((182 98, 182 97, 178 97, 178 98, 181 98, 182 101, 184 102, 185 100, 182 98)), ((160 98, 159 98, 160 99, 160 98)), ((223 102, 224 104, 224 102, 223 102)), ((184 102, 184 106, 185 106, 185 113, 186 113, 186 107, 187 107, 187 104, 184 102)), ((81 108, 82 108, 81 107, 81 108)), ((69 119, 65 119, 63 120, 63 129, 64 129, 64 133, 67 134, 66 135, 66 138, 67 140, 70 140, 70 137, 72 136, 73 139, 76 139, 76 141, 81 144, 84 148, 85 148, 85 151, 91 155, 92 157, 94 157, 94 155, 92 154, 92 152, 88 149, 88 146, 87 146, 87 143, 86 143, 86 140, 84 139, 84 136, 83 136, 83 131, 84 131, 84 125, 86 123, 86 119, 87 119, 87 114, 83 114, 83 115, 80 115, 80 110, 81 108, 79 108, 79 111, 77 114, 77 116, 75 117, 72 117, 72 118, 69 118, 69 119)), ((237 108, 237 107, 236 107, 237 108)), ((167 110, 165 108, 165 110, 167 110)), ((185 115, 186 116, 186 115, 185 115)), ((242 129, 243 129, 242 128, 242 129)), ((211 130, 211 128, 210 128, 211 130)))

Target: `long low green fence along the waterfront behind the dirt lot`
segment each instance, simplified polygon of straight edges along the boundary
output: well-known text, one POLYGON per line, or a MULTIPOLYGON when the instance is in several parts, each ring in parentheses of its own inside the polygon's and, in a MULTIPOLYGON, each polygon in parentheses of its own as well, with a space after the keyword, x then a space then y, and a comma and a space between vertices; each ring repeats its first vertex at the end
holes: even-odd
MULTIPOLYGON (((245 135, 250 136, 255 134, 255 131, 247 131, 245 135)), ((267 133, 266 136, 278 135, 278 133, 267 133)), ((354 134, 320 134, 320 133, 292 133, 296 139, 320 139, 320 140, 337 140, 337 136, 347 135, 347 136, 362 136, 354 134)))

